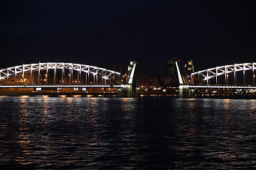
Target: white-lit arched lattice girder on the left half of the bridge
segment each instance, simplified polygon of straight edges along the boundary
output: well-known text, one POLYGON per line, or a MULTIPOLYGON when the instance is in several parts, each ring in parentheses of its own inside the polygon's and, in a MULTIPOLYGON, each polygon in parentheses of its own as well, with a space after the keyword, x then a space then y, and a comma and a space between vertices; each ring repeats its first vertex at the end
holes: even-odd
POLYGON ((16 75, 24 72, 34 72, 38 70, 46 69, 70 69, 77 72, 86 72, 88 74, 100 75, 104 79, 109 77, 115 77, 121 73, 114 72, 110 69, 104 69, 101 67, 90 66, 86 64, 74 64, 65 62, 39 62, 36 64, 23 64, 14 67, 8 67, 6 69, 0 69, 0 79, 5 79, 11 75, 16 75))

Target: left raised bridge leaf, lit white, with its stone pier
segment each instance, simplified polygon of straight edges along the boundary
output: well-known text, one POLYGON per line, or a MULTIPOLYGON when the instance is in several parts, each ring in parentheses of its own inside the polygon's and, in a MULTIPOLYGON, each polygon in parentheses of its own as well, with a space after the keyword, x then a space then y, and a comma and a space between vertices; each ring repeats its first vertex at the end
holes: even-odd
POLYGON ((132 61, 128 66, 128 82, 124 84, 124 86, 119 89, 120 97, 137 97, 137 80, 139 74, 139 62, 132 61))

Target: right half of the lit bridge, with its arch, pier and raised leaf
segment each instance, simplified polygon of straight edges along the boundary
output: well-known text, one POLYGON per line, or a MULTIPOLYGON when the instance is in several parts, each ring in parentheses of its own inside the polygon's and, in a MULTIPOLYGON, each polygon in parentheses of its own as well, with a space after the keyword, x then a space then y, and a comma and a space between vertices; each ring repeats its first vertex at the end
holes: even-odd
POLYGON ((180 98, 193 98, 196 89, 256 89, 256 62, 229 64, 189 75, 184 74, 179 65, 176 61, 180 98), (188 79, 185 79, 186 77, 188 79))

